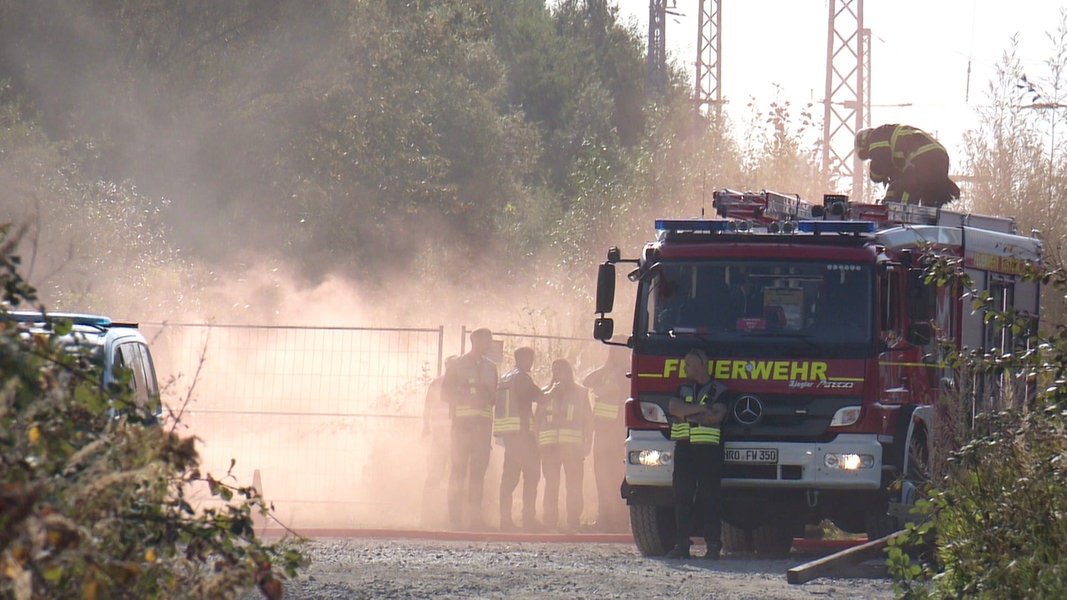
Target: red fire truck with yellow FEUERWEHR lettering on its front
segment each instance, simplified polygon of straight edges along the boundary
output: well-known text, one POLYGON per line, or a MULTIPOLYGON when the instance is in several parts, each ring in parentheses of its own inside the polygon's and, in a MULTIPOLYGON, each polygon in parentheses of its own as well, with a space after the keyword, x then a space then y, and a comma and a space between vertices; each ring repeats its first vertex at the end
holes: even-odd
POLYGON ((825 519, 872 538, 899 528, 928 477, 939 402, 959 396, 940 343, 1007 350, 1023 337, 988 325, 961 290, 927 285, 922 258, 961 259, 993 309, 1036 327, 1038 284, 1022 275, 1039 240, 1007 218, 838 195, 722 190, 714 205, 721 218, 658 220, 640 256, 612 248, 600 266, 598 340, 621 344, 616 266, 632 264, 637 286, 622 493, 638 549, 673 544, 666 408, 695 347, 728 388, 728 550, 785 551, 825 519))

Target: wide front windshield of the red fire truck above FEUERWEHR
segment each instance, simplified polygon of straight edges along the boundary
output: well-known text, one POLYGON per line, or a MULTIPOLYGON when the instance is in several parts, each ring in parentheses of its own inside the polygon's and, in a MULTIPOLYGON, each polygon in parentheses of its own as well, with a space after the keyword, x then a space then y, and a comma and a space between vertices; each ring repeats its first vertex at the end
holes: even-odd
POLYGON ((870 345, 872 267, 833 260, 665 260, 641 280, 637 333, 707 342, 870 345), (780 341, 779 341, 780 340, 780 341))

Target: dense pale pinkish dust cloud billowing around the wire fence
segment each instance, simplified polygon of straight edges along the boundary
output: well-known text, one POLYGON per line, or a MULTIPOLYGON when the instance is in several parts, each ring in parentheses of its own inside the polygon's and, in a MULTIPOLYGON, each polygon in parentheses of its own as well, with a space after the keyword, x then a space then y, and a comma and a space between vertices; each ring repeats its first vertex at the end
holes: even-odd
MULTIPOLYGON (((412 293, 397 283, 380 301, 341 277, 301 286, 291 269, 269 262, 217 271, 216 283, 197 291, 210 312, 143 327, 160 379, 170 382, 164 401, 180 412, 180 430, 200 439, 204 471, 228 473, 236 485, 257 481, 276 519, 297 530, 444 526, 448 445, 440 423, 423 417, 441 358, 460 353, 464 327, 490 327, 511 335, 497 336, 506 342, 503 373, 517 345, 542 344, 536 336, 591 314, 551 290, 538 298, 536 285, 412 293), (490 301, 473 302, 479 296, 490 301)), ((605 353, 588 337, 539 350, 536 377, 544 384, 557 356, 580 375, 605 353)), ((495 447, 485 479, 490 522, 501 455, 495 447)))

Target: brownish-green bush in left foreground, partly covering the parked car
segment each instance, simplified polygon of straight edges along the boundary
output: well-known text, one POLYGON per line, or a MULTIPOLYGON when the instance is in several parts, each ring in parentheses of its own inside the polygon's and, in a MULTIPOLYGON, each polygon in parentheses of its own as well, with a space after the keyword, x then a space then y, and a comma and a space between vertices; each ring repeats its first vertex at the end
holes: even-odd
MULTIPOLYGON (((9 234, 0 316, 36 298, 9 234)), ((281 597, 302 558, 256 537, 256 491, 202 475, 194 439, 150 425, 122 381, 103 390, 102 365, 57 343, 69 327, 28 336, 0 319, 0 597, 281 597), (202 491, 213 507, 190 503, 202 491)))

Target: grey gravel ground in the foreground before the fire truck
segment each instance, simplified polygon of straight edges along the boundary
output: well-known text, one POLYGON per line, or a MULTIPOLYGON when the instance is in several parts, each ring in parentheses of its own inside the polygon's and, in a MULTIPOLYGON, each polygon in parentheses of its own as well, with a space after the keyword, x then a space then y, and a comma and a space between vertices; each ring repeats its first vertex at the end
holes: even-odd
MULTIPOLYGON (((796 552, 796 551, 794 551, 796 552)), ((893 598, 878 560, 793 585, 787 569, 817 557, 726 554, 720 560, 641 556, 632 543, 320 538, 286 598, 893 598)), ((703 553, 694 547, 695 555, 703 553)), ((251 597, 250 597, 251 598, 251 597)))

